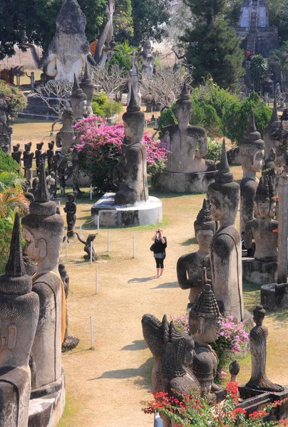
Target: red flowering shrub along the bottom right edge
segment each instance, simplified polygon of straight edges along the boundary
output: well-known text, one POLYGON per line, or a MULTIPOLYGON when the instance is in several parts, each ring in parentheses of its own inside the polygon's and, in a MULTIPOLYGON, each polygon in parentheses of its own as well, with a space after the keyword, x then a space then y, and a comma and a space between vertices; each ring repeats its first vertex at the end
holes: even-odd
POLYGON ((222 405, 210 406, 207 400, 195 391, 182 394, 179 399, 168 393, 155 393, 153 401, 141 402, 145 413, 160 413, 173 420, 178 427, 269 427, 288 426, 288 420, 264 421, 269 412, 281 406, 288 399, 267 405, 262 411, 255 411, 247 417, 243 408, 237 408, 239 399, 237 383, 231 382, 226 387, 225 400, 222 405))

